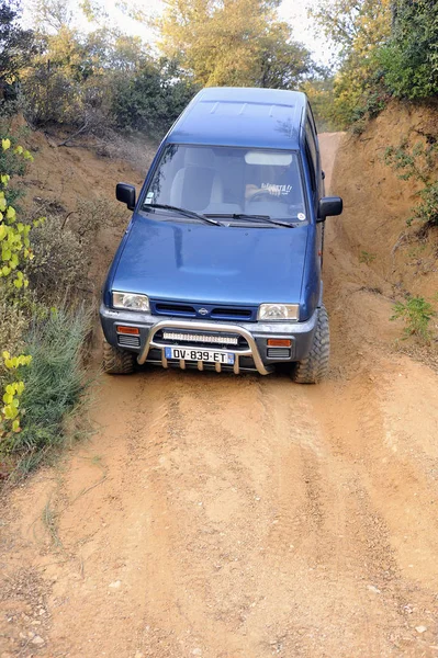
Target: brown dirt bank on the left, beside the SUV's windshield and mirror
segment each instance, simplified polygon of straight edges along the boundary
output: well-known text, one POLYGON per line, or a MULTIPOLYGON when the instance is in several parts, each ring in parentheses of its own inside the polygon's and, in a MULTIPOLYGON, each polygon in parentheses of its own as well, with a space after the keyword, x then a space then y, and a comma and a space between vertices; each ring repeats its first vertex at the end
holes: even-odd
MULTIPOLYGON (((15 132, 23 128, 21 123, 15 122, 15 132)), ((98 295, 131 215, 116 202, 115 184, 123 181, 139 190, 154 149, 147 140, 131 143, 120 137, 116 143, 82 138, 74 145, 59 146, 65 137, 59 133, 25 132, 23 139, 34 162, 24 179, 15 179, 14 184, 24 188, 25 196, 21 201, 24 208, 33 217, 56 215, 59 230, 64 227, 75 230, 78 203, 89 203, 90 225, 99 224, 89 272, 90 288, 98 295), (100 205, 101 201, 108 204, 111 216, 108 220, 101 216, 106 207, 100 205), (99 218, 93 217, 93 203, 99 218)))

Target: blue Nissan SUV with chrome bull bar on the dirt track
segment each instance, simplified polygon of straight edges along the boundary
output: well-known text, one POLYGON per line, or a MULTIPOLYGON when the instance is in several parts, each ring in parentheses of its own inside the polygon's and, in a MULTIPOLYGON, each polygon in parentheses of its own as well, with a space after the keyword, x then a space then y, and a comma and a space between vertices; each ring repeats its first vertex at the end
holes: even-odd
POLYGON ((327 372, 321 276, 324 195, 315 122, 303 93, 209 88, 162 140, 103 290, 106 373, 138 364, 200 371, 288 365, 327 372))

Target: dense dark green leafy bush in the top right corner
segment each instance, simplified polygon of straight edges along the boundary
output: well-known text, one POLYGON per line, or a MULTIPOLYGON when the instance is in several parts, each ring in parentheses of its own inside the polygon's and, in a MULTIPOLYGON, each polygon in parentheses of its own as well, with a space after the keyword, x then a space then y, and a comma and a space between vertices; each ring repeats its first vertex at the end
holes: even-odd
POLYGON ((393 30, 378 55, 394 97, 424 99, 438 92, 438 3, 394 0, 393 30))

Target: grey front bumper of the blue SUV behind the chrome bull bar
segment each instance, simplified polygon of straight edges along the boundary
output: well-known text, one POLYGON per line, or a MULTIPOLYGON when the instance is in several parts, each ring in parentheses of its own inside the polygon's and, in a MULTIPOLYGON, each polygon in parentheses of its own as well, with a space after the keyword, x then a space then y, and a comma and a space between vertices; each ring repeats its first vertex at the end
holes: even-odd
MULTIPOLYGON (((228 348, 236 354, 234 366, 223 366, 215 363, 213 368, 217 372, 232 370, 235 374, 242 371, 257 371, 260 375, 268 375, 278 363, 302 361, 308 355, 313 334, 316 328, 318 309, 305 322, 217 322, 214 320, 176 319, 162 317, 157 321, 157 316, 148 314, 116 310, 104 305, 100 308, 100 318, 103 333, 108 342, 114 347, 119 343, 117 325, 136 327, 139 329, 138 345, 123 345, 138 354, 138 364, 158 363, 164 367, 175 365, 165 356, 165 343, 157 339, 157 333, 164 329, 189 330, 191 332, 214 332, 217 334, 237 334, 244 340, 244 348, 228 348), (287 358, 272 355, 267 341, 271 338, 290 339, 291 349, 287 358)), ((177 363, 186 367, 186 362, 177 363)), ((194 362, 194 367, 204 370, 202 362, 194 362)), ((205 368, 206 370, 206 368, 205 368)))

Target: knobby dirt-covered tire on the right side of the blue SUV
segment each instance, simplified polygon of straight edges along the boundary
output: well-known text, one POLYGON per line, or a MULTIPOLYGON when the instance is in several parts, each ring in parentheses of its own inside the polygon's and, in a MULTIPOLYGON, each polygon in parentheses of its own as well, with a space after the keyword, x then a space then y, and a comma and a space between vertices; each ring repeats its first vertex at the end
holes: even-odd
POLYGON ((313 334, 311 352, 306 359, 295 364, 292 371, 292 379, 296 384, 318 384, 322 382, 328 373, 329 354, 330 333, 328 329, 328 316, 324 304, 322 304, 315 333, 313 334))

